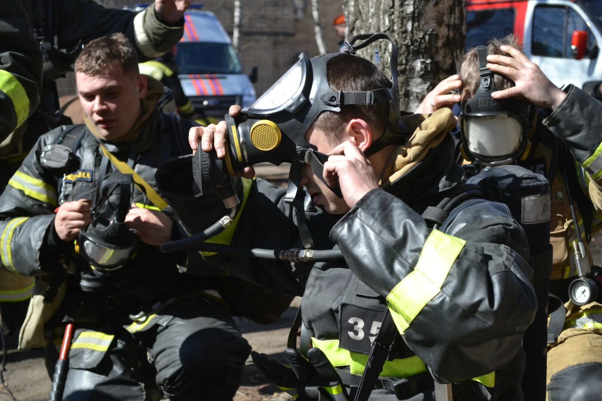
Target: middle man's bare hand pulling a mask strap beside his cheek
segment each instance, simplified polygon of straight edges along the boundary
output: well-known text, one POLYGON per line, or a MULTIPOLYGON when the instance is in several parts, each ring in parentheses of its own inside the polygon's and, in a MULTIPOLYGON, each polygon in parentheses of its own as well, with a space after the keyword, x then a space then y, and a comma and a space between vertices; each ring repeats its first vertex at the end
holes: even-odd
POLYGON ((369 191, 378 188, 378 178, 370 161, 352 141, 345 141, 329 152, 324 163, 324 179, 330 187, 341 188, 343 199, 352 208, 369 191))

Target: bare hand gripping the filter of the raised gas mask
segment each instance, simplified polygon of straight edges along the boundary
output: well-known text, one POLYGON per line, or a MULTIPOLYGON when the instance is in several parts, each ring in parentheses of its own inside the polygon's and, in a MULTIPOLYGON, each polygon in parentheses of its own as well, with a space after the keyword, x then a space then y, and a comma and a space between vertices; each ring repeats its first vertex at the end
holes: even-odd
MULTIPOLYGON (((240 106, 234 105, 230 107, 229 114, 231 117, 237 116, 238 113, 240 113, 240 106)), ((203 151, 209 152, 215 147, 217 157, 223 159, 226 155, 226 146, 228 146, 228 128, 226 128, 226 122, 220 121, 217 125, 209 124, 206 127, 193 126, 190 128, 190 131, 188 131, 188 143, 190 143, 193 154, 199 148, 199 141, 203 151)), ((255 176, 255 169, 253 169, 253 166, 245 166, 239 174, 244 178, 250 179, 255 176)))

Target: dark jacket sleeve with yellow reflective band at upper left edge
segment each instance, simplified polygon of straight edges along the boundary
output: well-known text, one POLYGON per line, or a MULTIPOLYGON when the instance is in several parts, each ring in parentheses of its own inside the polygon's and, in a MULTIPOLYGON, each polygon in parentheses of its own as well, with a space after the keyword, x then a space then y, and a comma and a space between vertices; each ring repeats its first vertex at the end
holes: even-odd
POLYGON ((0 142, 36 110, 42 89, 42 51, 31 35, 21 0, 6 0, 0 15, 0 142))

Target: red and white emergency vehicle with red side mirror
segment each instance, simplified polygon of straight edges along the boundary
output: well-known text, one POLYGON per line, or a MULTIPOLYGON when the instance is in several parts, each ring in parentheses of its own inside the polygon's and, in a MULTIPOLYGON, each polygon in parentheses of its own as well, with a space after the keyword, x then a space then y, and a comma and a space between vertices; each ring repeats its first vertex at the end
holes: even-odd
POLYGON ((467 49, 514 33, 554 84, 602 81, 602 1, 467 0, 467 49))

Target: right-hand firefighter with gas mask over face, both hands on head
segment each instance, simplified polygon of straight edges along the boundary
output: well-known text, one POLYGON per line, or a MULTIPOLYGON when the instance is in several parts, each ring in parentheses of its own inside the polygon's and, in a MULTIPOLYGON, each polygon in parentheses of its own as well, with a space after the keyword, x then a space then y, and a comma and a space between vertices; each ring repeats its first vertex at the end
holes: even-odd
MULTIPOLYGON (((527 362, 523 388, 530 389, 529 399, 533 400, 597 400, 602 380, 602 305, 599 268, 592 264, 588 243, 602 227, 602 106, 573 85, 558 89, 511 36, 468 52, 460 76, 429 93, 421 110, 451 106, 459 96, 462 106, 456 105, 455 110, 461 109, 462 116, 454 134, 459 146, 456 156, 473 161, 474 167, 467 166, 469 175, 475 168, 518 164, 550 181, 553 252, 545 261, 547 272, 539 272, 539 280, 550 279, 550 316, 544 332, 537 334, 543 334, 547 344, 523 344, 533 348, 526 348, 528 355, 543 358, 542 363, 527 362), (483 78, 488 76, 494 87, 485 90, 483 78), (462 84, 462 95, 448 94, 462 84), (482 107, 475 109, 475 105, 482 107), (523 111, 517 113, 520 107, 523 111), (515 123, 496 123, 507 116, 515 123), (480 125, 480 130, 471 129, 467 123, 478 119, 490 123, 480 125), (541 352, 546 345, 547 361, 541 352)), ((544 238, 543 233, 540 236, 544 238)), ((538 266, 534 267, 537 279, 538 266)), ((537 289, 540 284, 535 286, 537 289)), ((545 309, 548 300, 539 302, 539 308, 545 309)))

